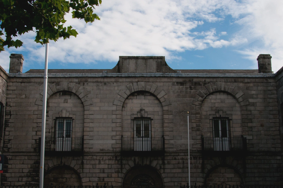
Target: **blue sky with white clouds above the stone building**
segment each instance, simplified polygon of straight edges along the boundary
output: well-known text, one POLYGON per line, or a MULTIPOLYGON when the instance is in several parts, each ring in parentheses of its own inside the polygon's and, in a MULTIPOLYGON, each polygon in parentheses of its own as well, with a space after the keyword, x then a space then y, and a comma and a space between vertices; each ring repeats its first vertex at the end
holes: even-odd
MULTIPOLYGON (((111 69, 119 56, 165 56, 173 69, 257 69, 259 54, 283 66, 281 0, 102 0, 91 24, 66 16, 79 35, 49 44, 49 69, 111 69)), ((0 53, 24 55, 23 72, 44 69, 45 47, 35 33, 0 53)))

